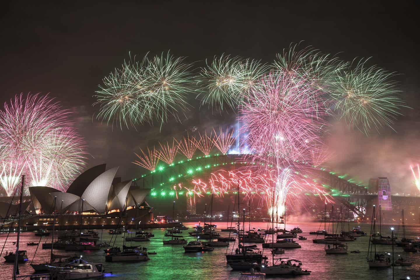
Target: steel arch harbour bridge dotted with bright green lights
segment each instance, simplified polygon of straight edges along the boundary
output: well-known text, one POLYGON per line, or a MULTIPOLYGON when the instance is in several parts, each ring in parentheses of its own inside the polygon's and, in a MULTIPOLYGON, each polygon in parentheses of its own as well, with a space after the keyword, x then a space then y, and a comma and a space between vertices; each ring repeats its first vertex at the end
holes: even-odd
MULTIPOLYGON (((247 164, 249 162, 244 162, 241 154, 209 154, 180 160, 170 165, 159 163, 155 170, 148 171, 133 180, 139 187, 150 188, 147 199, 152 204, 159 204, 159 200, 161 202, 168 200, 169 202, 178 198, 178 196, 186 196, 187 188, 176 190, 176 186, 179 184, 189 185, 194 178, 205 179, 218 170, 238 170, 247 164)), ((368 193, 366 186, 354 182, 348 175, 340 175, 323 168, 315 168, 303 176, 322 185, 325 194, 331 195, 335 204, 344 205, 360 219, 365 217, 367 206, 378 200, 377 193, 368 193)), ((210 194, 207 191, 201 195, 210 196, 210 194)), ((220 196, 226 194, 237 194, 237 192, 235 189, 231 189, 223 192, 220 196)), ((316 196, 317 194, 306 193, 303 195, 316 196)))

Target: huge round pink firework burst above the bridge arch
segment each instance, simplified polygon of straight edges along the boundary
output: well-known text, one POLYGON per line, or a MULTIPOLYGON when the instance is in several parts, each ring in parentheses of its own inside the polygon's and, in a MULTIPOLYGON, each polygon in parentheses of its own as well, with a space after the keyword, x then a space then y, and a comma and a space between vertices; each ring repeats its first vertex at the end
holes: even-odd
POLYGON ((278 167, 311 163, 323 149, 327 115, 320 89, 286 74, 264 76, 240 107, 241 132, 258 162, 278 167))

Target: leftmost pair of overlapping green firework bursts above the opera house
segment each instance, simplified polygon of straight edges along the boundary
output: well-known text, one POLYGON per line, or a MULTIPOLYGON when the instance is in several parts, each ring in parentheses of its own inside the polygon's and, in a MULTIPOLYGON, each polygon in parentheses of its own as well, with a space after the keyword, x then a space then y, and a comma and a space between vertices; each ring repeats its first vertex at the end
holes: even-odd
POLYGON ((183 114, 190 105, 188 94, 194 92, 191 64, 169 54, 141 62, 125 62, 121 69, 103 79, 96 92, 97 118, 122 128, 154 121, 167 122, 183 114))

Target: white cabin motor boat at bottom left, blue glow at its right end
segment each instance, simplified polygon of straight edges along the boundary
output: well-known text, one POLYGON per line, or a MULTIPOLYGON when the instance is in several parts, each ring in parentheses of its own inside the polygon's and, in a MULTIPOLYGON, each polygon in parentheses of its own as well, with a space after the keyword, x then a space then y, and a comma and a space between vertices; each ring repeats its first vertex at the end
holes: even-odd
POLYGON ((67 264, 65 267, 50 269, 52 279, 84 279, 104 275, 101 263, 84 262, 67 264))

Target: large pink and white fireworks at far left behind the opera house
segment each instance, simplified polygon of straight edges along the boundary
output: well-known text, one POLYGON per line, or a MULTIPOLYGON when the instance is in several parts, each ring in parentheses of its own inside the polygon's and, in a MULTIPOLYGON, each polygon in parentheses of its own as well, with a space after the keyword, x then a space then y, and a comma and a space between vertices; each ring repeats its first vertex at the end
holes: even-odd
MULTIPOLYGON (((66 191, 85 165, 84 141, 69 111, 39 94, 21 94, 0 111, 2 186, 12 194, 26 174, 30 186, 66 191)), ((25 188, 27 194, 28 189, 25 188)))

